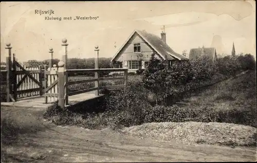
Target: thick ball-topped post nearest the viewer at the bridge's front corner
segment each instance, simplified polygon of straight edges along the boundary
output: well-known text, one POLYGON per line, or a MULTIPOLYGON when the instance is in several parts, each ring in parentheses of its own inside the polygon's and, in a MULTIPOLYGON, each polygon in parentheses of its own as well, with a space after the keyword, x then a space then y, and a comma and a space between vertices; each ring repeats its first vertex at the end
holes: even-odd
POLYGON ((64 76, 64 62, 60 61, 58 63, 58 78, 59 78, 59 101, 58 101, 58 105, 64 110, 65 107, 65 101, 64 101, 64 80, 65 80, 65 76, 64 76))

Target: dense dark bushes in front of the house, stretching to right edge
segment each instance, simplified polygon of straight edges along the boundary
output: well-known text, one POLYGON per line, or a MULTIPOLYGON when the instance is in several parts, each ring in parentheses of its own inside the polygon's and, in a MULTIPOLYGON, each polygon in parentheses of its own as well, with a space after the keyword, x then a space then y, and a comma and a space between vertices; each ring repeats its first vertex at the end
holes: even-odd
POLYGON ((152 54, 149 67, 143 72, 144 87, 157 95, 159 100, 169 96, 178 97, 184 92, 197 89, 204 83, 213 83, 235 76, 238 72, 255 69, 252 55, 226 56, 212 62, 208 56, 201 56, 190 62, 177 62, 168 66, 152 54))

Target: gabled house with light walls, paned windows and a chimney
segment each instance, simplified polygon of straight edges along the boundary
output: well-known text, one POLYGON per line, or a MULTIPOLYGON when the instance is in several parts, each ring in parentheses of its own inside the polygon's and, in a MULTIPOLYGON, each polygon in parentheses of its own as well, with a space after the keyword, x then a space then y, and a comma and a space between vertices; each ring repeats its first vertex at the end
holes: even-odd
POLYGON ((146 31, 134 30, 111 62, 118 64, 119 68, 128 68, 128 72, 136 72, 138 69, 145 69, 148 66, 153 53, 157 59, 167 60, 169 64, 189 60, 166 44, 164 30, 161 37, 146 31))

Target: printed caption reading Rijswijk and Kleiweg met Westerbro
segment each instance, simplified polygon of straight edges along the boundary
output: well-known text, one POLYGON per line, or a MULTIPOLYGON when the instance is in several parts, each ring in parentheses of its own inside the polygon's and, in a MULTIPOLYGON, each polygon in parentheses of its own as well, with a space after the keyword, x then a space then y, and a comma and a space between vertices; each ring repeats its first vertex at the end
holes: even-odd
POLYGON ((35 10, 35 14, 44 15, 45 21, 77 21, 77 20, 97 20, 99 16, 52 16, 54 15, 54 10, 35 10))

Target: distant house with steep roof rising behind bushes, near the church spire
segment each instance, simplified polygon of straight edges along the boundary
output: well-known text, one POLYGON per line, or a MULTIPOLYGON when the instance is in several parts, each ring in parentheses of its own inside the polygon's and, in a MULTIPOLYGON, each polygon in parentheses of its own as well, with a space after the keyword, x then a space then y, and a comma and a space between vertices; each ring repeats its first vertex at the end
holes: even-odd
POLYGON ((209 56, 209 58, 214 62, 217 60, 216 48, 194 48, 189 52, 189 60, 194 60, 201 56, 209 56))

